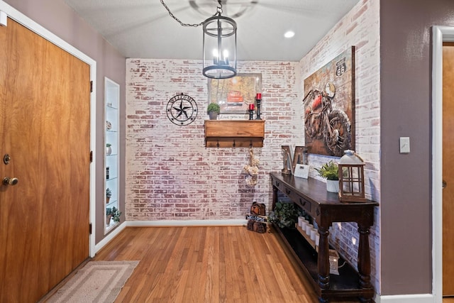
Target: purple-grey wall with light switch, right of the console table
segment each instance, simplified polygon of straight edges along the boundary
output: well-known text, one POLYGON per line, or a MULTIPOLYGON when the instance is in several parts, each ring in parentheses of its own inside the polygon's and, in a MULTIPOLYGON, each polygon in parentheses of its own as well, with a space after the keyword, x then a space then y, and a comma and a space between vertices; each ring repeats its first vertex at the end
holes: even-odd
POLYGON ((454 26, 452 0, 380 1, 382 295, 432 292, 431 26, 454 26))

